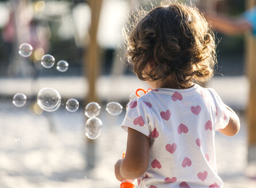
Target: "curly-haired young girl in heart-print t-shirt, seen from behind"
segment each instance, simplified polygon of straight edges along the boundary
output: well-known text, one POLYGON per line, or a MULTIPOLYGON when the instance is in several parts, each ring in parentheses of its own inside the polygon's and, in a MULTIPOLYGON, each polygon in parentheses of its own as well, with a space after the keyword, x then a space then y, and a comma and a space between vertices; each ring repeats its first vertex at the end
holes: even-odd
MULTIPOLYGON (((141 11, 145 13, 145 11, 141 11)), ((213 75, 215 39, 194 6, 171 3, 145 13, 127 33, 127 57, 153 88, 130 102, 122 127, 126 156, 115 175, 143 188, 223 187, 215 131, 235 135, 239 118, 203 83, 213 75)))

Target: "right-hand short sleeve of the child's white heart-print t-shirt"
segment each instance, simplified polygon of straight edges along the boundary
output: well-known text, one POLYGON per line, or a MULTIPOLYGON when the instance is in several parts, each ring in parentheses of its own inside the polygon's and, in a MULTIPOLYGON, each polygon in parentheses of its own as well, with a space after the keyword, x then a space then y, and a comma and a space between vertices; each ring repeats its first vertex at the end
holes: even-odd
POLYGON ((212 88, 208 88, 208 90, 210 91, 215 104, 215 131, 219 131, 227 126, 230 121, 230 115, 226 104, 220 99, 218 93, 212 88))

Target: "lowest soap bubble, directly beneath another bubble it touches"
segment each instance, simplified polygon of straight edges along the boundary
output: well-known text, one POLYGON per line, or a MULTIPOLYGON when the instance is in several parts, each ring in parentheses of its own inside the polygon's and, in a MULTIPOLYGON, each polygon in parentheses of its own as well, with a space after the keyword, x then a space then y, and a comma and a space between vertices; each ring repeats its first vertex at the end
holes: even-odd
POLYGON ((97 139, 102 132, 102 121, 98 117, 90 117, 86 121, 85 131, 88 138, 97 139))

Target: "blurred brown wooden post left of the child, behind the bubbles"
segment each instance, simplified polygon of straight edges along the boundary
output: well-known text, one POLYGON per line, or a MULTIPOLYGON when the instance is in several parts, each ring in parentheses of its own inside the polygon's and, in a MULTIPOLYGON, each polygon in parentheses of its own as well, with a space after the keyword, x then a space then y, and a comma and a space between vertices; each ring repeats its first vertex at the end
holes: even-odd
MULTIPOLYGON (((102 0, 90 0, 91 7, 91 27, 89 30, 90 42, 87 48, 87 56, 84 61, 84 73, 88 79, 88 97, 85 101, 90 103, 91 101, 97 101, 96 96, 96 81, 99 70, 99 46, 97 42, 97 30, 100 17, 100 8, 102 6, 102 0)), ((94 167, 95 163, 95 142, 94 140, 87 139, 87 170, 94 167)))

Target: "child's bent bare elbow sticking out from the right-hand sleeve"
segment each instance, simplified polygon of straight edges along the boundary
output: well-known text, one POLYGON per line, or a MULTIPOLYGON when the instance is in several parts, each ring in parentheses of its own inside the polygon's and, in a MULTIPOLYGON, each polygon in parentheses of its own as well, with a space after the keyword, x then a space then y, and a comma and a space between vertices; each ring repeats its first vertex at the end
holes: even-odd
POLYGON ((228 122, 227 127, 223 128, 223 130, 220 130, 219 132, 226 136, 234 136, 240 130, 239 117, 230 107, 227 106, 227 109, 228 112, 230 112, 230 121, 228 122))

